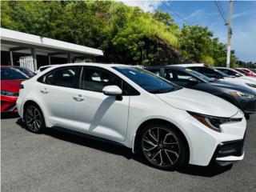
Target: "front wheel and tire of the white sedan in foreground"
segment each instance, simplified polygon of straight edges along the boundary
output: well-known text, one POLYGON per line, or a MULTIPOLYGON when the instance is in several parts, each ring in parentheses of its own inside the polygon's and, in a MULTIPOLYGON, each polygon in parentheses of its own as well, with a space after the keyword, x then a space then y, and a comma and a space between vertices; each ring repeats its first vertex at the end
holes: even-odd
POLYGON ((141 133, 139 150, 151 166, 174 170, 186 163, 186 144, 176 129, 154 124, 146 126, 141 133))

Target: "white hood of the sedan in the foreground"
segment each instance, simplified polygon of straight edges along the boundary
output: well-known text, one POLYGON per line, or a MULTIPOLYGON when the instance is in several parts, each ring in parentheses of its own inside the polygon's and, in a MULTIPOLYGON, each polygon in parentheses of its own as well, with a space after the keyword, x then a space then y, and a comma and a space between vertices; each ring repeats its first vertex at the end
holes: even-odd
POLYGON ((170 106, 198 114, 230 118, 238 113, 238 108, 230 102, 199 90, 183 88, 166 94, 157 94, 157 96, 170 106))

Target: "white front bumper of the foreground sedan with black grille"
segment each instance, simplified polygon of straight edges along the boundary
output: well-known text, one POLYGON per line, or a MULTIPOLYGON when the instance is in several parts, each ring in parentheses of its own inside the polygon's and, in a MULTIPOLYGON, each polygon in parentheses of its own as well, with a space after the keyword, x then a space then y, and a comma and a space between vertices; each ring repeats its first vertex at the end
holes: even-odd
POLYGON ((190 164, 208 166, 211 161, 217 161, 224 165, 225 162, 230 164, 230 162, 242 160, 243 147, 240 150, 235 148, 235 151, 242 151, 240 154, 233 154, 234 151, 230 151, 229 154, 228 151, 224 151, 227 143, 243 140, 246 132, 246 118, 243 114, 238 112, 233 118, 242 118, 242 121, 223 124, 221 133, 210 130, 192 116, 179 123, 189 145, 190 164), (223 150, 226 154, 219 153, 219 150, 223 150))

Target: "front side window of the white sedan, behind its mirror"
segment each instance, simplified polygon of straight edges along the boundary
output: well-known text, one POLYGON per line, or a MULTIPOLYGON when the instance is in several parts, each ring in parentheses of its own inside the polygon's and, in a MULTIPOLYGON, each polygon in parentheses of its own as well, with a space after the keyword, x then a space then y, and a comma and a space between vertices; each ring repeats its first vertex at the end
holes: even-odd
POLYGON ((118 86, 122 95, 138 95, 138 91, 117 75, 97 67, 85 67, 82 71, 80 89, 102 92, 105 86, 118 86))

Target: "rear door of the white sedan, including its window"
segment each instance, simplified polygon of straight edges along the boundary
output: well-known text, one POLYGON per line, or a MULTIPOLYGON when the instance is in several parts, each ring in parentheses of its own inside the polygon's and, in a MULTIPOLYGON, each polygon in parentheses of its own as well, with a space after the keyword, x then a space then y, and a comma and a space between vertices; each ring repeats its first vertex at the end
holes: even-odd
POLYGON ((78 66, 65 66, 38 78, 38 97, 54 126, 73 125, 73 96, 78 83, 78 66))

